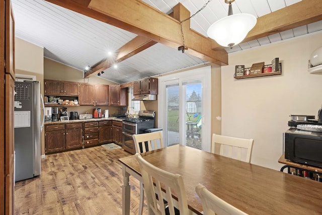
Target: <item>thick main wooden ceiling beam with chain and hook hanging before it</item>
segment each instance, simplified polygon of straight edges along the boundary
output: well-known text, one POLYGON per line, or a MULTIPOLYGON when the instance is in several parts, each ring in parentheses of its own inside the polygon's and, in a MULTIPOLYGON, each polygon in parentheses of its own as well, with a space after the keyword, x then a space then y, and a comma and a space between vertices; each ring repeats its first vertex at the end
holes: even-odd
MULTIPOLYGON (((115 27, 178 49, 182 45, 180 22, 138 0, 46 0, 115 27), (90 3, 89 3, 90 2, 90 3)), ((182 7, 178 7, 182 10, 182 7)), ((188 17, 187 17, 188 18, 188 17)), ((188 23, 188 22, 187 22, 188 23)), ((186 26, 186 23, 184 23, 186 26)), ((211 49, 212 39, 190 29, 184 31, 187 53, 218 65, 228 64, 226 51, 211 49)))

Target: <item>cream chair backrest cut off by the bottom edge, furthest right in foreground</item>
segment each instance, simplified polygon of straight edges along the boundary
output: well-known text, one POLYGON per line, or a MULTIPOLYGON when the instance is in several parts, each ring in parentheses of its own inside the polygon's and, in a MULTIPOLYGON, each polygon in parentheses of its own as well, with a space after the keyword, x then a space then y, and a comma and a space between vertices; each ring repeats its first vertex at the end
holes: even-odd
POLYGON ((198 184, 196 186, 196 192, 201 199, 204 215, 213 215, 214 213, 216 215, 247 215, 247 213, 239 210, 215 194, 211 193, 202 184, 198 184))

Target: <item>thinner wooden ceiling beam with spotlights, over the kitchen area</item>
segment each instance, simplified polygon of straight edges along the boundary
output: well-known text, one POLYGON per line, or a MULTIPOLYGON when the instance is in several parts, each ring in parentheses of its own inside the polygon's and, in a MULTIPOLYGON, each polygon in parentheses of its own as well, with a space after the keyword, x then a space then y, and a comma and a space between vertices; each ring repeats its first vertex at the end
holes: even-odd
POLYGON ((137 54, 148 47, 156 44, 157 42, 143 37, 143 36, 136 36, 134 39, 130 40, 128 43, 123 45, 119 48, 116 52, 116 56, 111 56, 110 58, 104 58, 103 60, 94 64, 91 69, 85 74, 85 78, 90 78, 92 76, 97 75, 101 71, 111 67, 115 63, 119 63, 134 54, 137 54))

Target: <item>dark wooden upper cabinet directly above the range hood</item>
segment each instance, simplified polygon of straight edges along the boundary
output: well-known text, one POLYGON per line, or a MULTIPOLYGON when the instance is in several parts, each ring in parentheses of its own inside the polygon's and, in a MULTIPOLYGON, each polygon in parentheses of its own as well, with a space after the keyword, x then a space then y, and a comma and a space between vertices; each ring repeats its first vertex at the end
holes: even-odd
POLYGON ((157 95, 158 80, 156 78, 146 78, 133 82, 133 94, 152 94, 157 95))

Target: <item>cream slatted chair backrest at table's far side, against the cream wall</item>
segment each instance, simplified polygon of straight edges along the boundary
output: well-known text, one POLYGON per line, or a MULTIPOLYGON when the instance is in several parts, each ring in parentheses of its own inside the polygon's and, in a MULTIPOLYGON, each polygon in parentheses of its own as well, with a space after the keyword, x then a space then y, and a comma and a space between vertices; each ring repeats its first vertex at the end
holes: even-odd
POLYGON ((219 134, 212 134, 211 153, 218 154, 216 152, 217 147, 215 147, 215 145, 220 144, 219 155, 242 161, 241 149, 246 149, 246 162, 251 163, 253 143, 254 139, 244 139, 230 136, 222 136, 219 134), (232 155, 233 149, 236 151, 235 157, 233 157, 232 155))

